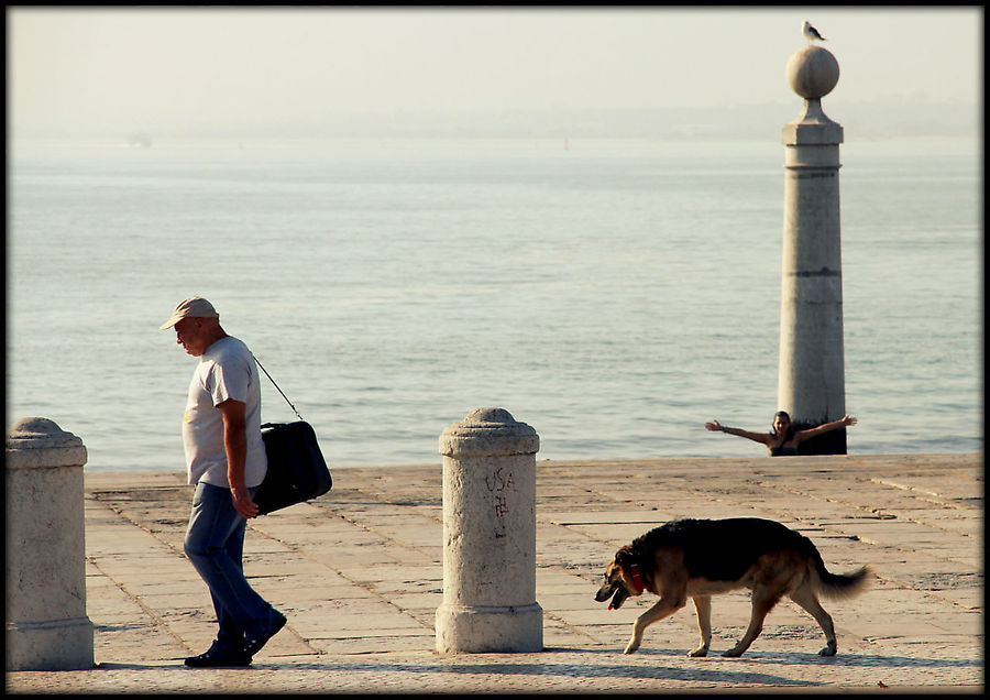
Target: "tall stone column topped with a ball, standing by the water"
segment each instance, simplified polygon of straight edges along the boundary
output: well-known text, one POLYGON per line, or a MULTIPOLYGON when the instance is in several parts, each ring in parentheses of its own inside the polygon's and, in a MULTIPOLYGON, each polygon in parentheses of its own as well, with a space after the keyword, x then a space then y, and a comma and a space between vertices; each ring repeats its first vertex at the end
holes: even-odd
MULTIPOLYGON (((785 176, 778 405, 799 429, 846 413, 838 177, 843 128, 822 111, 822 98, 838 76, 835 56, 821 46, 798 51, 787 65, 804 111, 781 134, 785 176)), ((845 428, 806 440, 801 453, 845 455, 845 428)))

